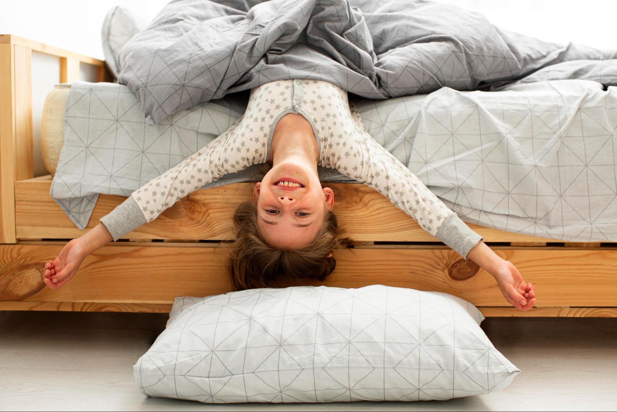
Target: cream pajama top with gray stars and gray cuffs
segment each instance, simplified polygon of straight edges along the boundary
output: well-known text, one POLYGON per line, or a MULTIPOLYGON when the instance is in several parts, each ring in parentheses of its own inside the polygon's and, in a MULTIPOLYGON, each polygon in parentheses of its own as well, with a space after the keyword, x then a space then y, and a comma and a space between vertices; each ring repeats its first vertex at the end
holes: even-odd
POLYGON ((252 89, 246 112, 230 128, 133 191, 101 222, 118 240, 206 183, 267 162, 276 124, 288 113, 301 114, 312 126, 321 166, 375 188, 463 258, 482 240, 366 132, 347 91, 321 80, 281 80, 252 89))

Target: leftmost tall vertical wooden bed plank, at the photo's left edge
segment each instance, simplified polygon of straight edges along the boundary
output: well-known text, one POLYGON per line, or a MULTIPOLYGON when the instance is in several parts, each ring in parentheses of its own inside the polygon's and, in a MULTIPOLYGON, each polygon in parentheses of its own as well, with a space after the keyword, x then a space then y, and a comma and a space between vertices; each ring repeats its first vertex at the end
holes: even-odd
POLYGON ((0 44, 0 243, 15 243, 14 48, 0 44))

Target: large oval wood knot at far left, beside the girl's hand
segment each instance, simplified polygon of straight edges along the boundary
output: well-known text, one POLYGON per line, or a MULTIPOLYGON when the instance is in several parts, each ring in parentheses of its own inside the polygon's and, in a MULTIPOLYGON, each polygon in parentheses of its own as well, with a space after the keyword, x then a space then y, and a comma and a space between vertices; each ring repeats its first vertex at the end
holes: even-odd
POLYGON ((45 287, 44 263, 27 263, 0 275, 0 300, 24 300, 45 287))

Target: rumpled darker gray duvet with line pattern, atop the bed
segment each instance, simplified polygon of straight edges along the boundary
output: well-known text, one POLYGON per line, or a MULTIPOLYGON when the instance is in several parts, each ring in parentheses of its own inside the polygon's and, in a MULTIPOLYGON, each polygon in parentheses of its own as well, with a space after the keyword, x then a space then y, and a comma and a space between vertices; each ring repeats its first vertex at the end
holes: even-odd
POLYGON ((149 124, 272 80, 325 80, 371 99, 502 85, 564 61, 615 59, 409 0, 172 1, 120 50, 118 83, 149 124))

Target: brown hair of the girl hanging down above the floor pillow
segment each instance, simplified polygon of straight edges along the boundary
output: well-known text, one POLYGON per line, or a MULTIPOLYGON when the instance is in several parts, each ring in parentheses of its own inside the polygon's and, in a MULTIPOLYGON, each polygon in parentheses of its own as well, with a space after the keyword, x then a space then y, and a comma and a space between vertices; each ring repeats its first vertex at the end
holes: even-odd
POLYGON ((336 260, 328 254, 353 244, 348 238, 339 239, 336 216, 329 210, 315 240, 298 250, 274 248, 263 240, 257 227, 257 205, 253 201, 238 206, 233 222, 236 241, 229 244, 227 264, 236 290, 270 287, 280 275, 323 281, 336 267, 336 260))

